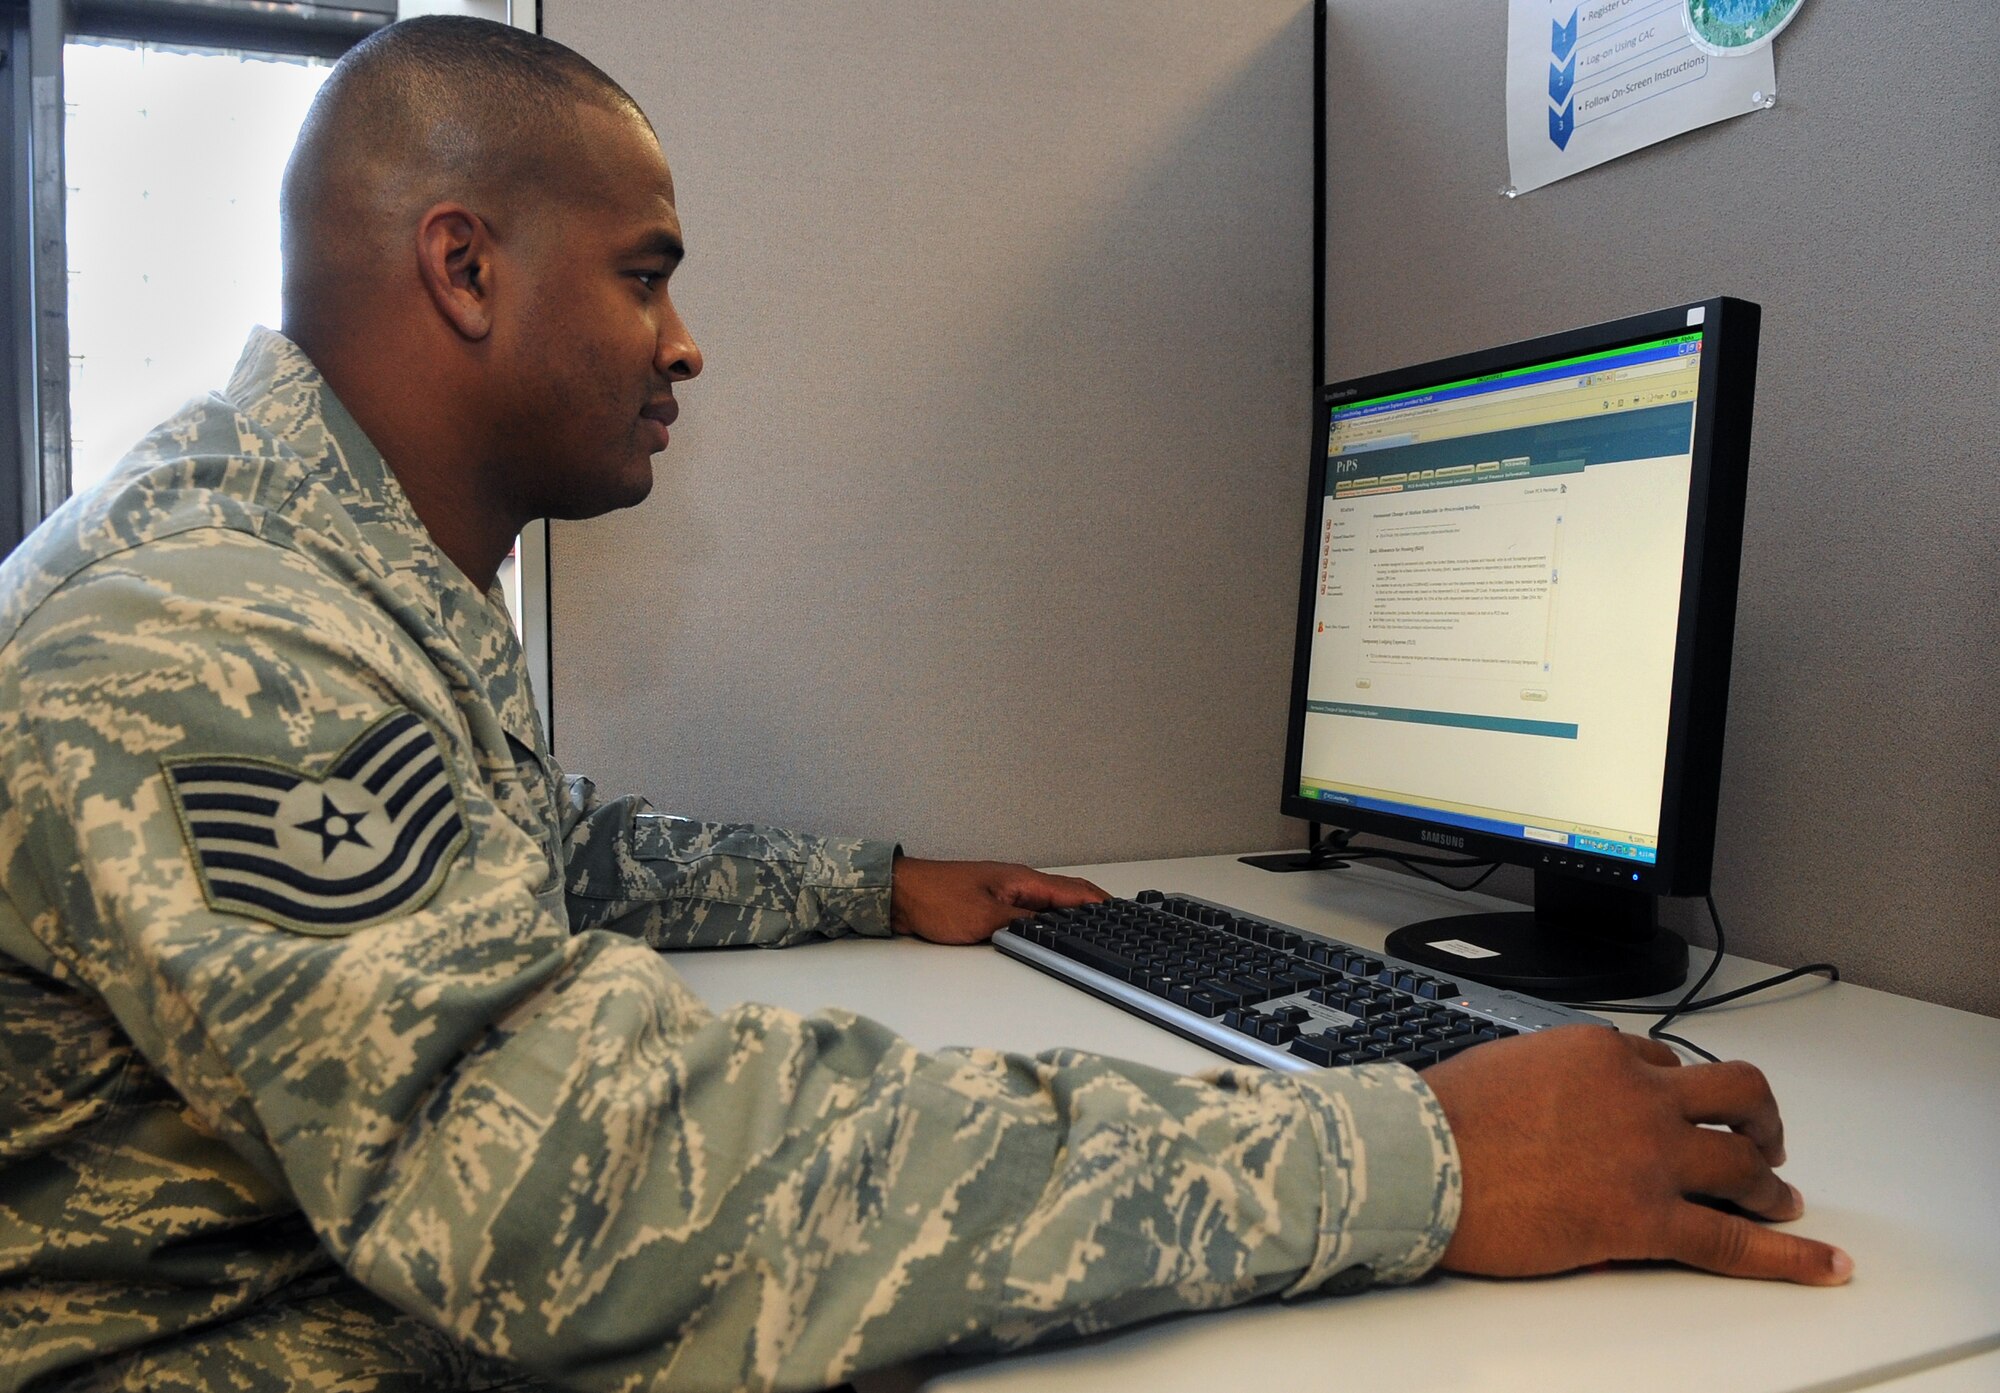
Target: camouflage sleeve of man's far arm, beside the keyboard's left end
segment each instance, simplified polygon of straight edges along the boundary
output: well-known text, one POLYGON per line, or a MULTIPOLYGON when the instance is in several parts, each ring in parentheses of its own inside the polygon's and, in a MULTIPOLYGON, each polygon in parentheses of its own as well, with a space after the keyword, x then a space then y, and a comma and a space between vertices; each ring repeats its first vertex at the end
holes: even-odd
POLYGON ((654 813, 558 779, 568 909, 654 949, 886 939, 894 843, 810 837, 654 813))

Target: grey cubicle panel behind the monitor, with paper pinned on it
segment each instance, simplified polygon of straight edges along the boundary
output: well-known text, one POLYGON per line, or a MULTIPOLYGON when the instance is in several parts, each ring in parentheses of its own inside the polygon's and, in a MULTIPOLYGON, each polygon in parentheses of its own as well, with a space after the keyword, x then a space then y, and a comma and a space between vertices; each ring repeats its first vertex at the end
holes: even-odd
POLYGON ((1776 108, 1516 200, 1506 8, 1330 8, 1328 372, 1762 302, 1730 947, 2000 1015, 2000 6, 1808 0, 1776 108))

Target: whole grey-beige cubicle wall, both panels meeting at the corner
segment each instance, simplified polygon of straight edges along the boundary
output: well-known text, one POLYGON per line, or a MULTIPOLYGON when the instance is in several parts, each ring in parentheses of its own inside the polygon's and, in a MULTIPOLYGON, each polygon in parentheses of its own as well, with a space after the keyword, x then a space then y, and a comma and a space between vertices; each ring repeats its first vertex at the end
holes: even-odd
MULTIPOLYGON (((1764 302, 1732 947, 2000 1013, 1980 8, 1816 0, 1776 110, 1506 202, 1506 6, 1336 0, 1328 352, 1764 302)), ((660 126, 710 356, 654 500, 554 532, 558 753, 940 855, 1296 841, 1310 8, 552 0, 546 28, 660 126)))

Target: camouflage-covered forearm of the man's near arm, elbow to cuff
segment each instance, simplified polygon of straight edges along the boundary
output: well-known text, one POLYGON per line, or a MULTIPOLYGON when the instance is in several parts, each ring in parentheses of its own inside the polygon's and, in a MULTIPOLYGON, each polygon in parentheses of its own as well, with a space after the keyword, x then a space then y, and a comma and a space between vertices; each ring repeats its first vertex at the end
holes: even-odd
POLYGON ((396 1305, 576 1387, 824 1387, 1340 1273, 1406 1281, 1458 1203, 1442 1111, 1398 1067, 926 1055, 846 1013, 708 1015, 604 939, 422 1131, 322 1233, 396 1305), (606 1037, 634 1011, 658 1027, 606 1037), (516 1131, 536 1141, 492 1145, 516 1131))

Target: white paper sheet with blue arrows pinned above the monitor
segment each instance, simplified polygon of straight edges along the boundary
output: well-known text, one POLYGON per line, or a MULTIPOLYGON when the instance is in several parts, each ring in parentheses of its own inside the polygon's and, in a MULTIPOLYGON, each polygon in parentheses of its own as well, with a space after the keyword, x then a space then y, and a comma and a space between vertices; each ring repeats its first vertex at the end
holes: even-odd
POLYGON ((1770 34, 1800 0, 1508 0, 1510 198, 1620 154, 1766 110, 1776 100, 1770 34), (1696 42, 1700 10, 1724 50, 1696 42), (1754 10, 1756 16, 1748 12, 1754 10), (1744 12, 1744 14, 1738 14, 1744 12), (1760 42, 1742 34, 1756 20, 1760 42), (1774 20, 1766 24, 1766 20, 1774 20))

